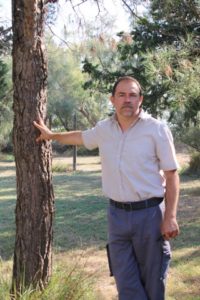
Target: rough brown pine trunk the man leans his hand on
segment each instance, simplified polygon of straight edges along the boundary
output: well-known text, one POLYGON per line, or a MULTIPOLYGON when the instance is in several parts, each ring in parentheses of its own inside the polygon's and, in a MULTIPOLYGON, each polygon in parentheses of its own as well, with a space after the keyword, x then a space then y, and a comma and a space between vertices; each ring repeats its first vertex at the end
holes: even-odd
POLYGON ((51 276, 54 196, 51 144, 37 144, 33 126, 46 118, 44 0, 12 0, 12 10, 17 203, 11 291, 20 294, 30 285, 43 288, 51 276))

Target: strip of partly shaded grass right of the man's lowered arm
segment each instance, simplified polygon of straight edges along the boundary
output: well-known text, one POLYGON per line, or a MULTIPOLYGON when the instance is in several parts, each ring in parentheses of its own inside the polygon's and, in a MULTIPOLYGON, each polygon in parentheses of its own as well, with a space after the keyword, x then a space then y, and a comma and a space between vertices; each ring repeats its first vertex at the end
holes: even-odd
POLYGON ((171 268, 180 278, 170 299, 199 300, 200 181, 196 177, 184 176, 181 177, 181 182, 178 208, 180 235, 171 241, 174 250, 171 268), (182 288, 179 287, 179 281, 182 288))

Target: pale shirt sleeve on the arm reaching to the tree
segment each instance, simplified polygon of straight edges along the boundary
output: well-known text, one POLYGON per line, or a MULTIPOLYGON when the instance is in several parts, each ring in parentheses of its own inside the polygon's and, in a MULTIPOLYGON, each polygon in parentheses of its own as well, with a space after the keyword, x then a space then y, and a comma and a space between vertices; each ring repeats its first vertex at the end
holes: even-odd
POLYGON ((98 148, 98 129, 97 125, 91 129, 82 132, 83 144, 89 149, 98 148))

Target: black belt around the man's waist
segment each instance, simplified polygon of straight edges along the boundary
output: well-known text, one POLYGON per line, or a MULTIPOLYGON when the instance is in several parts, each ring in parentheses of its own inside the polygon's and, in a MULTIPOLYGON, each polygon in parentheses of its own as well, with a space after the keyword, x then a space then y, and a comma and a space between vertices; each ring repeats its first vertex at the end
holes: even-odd
POLYGON ((153 207, 159 205, 163 201, 163 198, 153 197, 137 202, 118 202, 110 199, 110 204, 127 211, 144 209, 148 207, 153 207))

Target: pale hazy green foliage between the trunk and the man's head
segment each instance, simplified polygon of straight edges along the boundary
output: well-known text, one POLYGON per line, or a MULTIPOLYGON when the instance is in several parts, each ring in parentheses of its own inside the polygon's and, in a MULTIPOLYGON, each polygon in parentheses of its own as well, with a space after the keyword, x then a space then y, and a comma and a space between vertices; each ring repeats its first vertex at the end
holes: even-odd
POLYGON ((54 127, 72 130, 74 113, 77 114, 77 126, 80 129, 91 127, 108 111, 104 95, 82 88, 86 80, 80 66, 83 51, 86 51, 83 45, 74 45, 71 51, 58 47, 51 40, 48 42, 48 117, 54 127))

